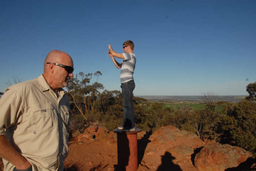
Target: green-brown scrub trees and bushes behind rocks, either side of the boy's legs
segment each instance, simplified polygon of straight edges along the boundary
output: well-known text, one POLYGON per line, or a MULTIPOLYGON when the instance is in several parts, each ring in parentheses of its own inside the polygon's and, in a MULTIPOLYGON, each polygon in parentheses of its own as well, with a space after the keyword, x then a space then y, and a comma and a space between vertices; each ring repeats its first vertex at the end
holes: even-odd
MULTIPOLYGON (((109 131, 122 124, 122 93, 104 90, 98 82, 101 72, 80 72, 67 87, 72 110, 69 133, 80 133, 95 122, 109 131), (97 81, 91 83, 91 78, 97 81)), ((166 125, 191 131, 201 139, 228 143, 256 152, 255 83, 246 90, 249 97, 239 102, 216 101, 215 93, 203 93, 203 103, 188 104, 147 101, 134 97, 136 127, 153 132, 166 125)))

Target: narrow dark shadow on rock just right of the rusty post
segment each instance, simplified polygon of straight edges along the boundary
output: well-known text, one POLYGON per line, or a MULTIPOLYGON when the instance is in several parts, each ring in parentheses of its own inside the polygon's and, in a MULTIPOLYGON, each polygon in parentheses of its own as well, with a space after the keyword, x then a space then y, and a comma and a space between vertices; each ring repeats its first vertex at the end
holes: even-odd
POLYGON ((140 164, 143 159, 147 144, 151 142, 149 140, 149 137, 151 134, 152 134, 151 131, 146 132, 143 138, 138 140, 138 164, 140 164))

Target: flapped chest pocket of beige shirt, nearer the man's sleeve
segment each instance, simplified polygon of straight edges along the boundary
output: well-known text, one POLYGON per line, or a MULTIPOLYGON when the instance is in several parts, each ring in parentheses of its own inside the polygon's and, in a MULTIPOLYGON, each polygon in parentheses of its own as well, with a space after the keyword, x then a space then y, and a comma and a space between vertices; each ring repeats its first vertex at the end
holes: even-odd
POLYGON ((30 106, 31 129, 34 133, 52 131, 53 128, 53 105, 51 103, 33 104, 30 106))

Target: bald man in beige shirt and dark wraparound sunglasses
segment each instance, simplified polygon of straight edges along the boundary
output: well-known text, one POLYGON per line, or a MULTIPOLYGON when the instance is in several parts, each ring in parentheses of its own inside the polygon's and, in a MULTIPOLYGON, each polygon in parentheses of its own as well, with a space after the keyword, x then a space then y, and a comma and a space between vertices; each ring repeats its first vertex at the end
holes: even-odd
POLYGON ((58 50, 44 74, 9 87, 0 98, 0 157, 4 171, 61 171, 68 155, 71 120, 63 87, 73 77, 72 58, 58 50))

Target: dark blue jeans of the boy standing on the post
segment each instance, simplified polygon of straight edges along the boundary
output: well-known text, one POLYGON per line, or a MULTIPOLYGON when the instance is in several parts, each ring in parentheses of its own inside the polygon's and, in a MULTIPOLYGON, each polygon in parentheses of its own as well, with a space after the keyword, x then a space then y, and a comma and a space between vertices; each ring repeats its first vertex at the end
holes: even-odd
POLYGON ((123 121, 125 128, 133 128, 135 127, 135 120, 134 120, 134 109, 132 104, 132 92, 135 88, 135 83, 133 80, 122 83, 122 94, 123 94, 123 121))

